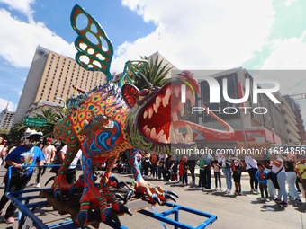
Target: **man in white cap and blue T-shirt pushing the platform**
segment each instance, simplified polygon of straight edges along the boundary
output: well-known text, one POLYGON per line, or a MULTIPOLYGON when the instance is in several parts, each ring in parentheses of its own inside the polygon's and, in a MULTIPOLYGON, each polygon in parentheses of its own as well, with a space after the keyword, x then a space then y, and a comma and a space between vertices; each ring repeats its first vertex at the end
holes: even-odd
MULTIPOLYGON (((43 166, 43 160, 45 159, 39 147, 34 146, 40 140, 42 136, 41 132, 27 129, 23 136, 24 145, 17 146, 11 154, 8 154, 5 161, 8 165, 14 166, 12 168, 11 182, 8 185, 8 172, 5 174, 5 187, 6 191, 18 191, 23 190, 28 182, 31 180, 33 174, 33 167, 26 167, 29 165, 35 165, 35 162, 39 163, 39 166, 43 166)), ((17 198, 17 196, 16 196, 17 198)), ((8 202, 8 198, 5 195, 0 200, 0 215, 3 212, 5 204, 8 202)), ((6 224, 14 223, 14 211, 16 207, 11 203, 6 209, 4 216, 6 224)))

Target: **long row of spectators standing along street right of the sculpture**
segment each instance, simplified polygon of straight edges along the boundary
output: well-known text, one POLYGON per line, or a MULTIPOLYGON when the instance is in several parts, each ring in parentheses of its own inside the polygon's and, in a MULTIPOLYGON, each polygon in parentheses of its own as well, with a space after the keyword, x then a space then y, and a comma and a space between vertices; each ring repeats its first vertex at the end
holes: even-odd
MULTIPOLYGON (((114 170, 118 164, 121 164, 121 173, 129 173, 129 163, 123 158, 123 156, 119 158, 114 165, 114 170)), ((242 195, 241 174, 246 171, 249 176, 250 192, 260 193, 263 201, 268 202, 269 198, 273 198, 276 203, 286 207, 289 196, 290 201, 302 203, 300 193, 305 198, 306 190, 306 156, 280 155, 277 151, 273 151, 270 152, 269 158, 262 159, 258 163, 254 154, 246 155, 244 158, 229 154, 202 154, 198 160, 188 160, 187 156, 183 156, 182 160, 174 160, 170 154, 137 152, 137 161, 144 178, 178 181, 183 186, 211 189, 211 174, 213 174, 214 190, 223 191, 222 173, 226 181, 224 191, 242 195), (196 167, 199 168, 198 184, 195 183, 196 167), (192 180, 190 183, 188 182, 189 173, 192 180), (289 193, 287 193, 286 184, 288 184, 289 193)))

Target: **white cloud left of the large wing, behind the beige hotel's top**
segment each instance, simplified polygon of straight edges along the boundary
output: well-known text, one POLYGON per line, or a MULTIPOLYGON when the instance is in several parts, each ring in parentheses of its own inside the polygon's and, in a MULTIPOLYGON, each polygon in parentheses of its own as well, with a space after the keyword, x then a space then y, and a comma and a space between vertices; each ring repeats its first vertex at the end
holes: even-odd
POLYGON ((21 22, 11 13, 0 9, 0 56, 15 67, 30 67, 34 51, 38 45, 49 48, 67 57, 74 57, 74 45, 58 37, 42 22, 21 22))

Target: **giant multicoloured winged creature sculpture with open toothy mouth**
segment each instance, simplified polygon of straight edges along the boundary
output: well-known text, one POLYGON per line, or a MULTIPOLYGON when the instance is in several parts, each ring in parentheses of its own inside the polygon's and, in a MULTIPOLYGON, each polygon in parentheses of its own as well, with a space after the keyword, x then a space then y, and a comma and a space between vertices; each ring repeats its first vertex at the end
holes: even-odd
POLYGON ((139 191, 147 195, 151 202, 160 203, 160 200, 165 201, 168 198, 175 200, 173 196, 177 196, 172 191, 144 181, 136 160, 137 149, 156 154, 172 154, 175 148, 193 148, 195 143, 192 128, 219 136, 231 136, 234 132, 213 113, 211 115, 229 131, 205 128, 177 119, 178 112, 184 113, 184 105, 177 88, 180 88, 181 84, 189 85, 186 97, 192 106, 195 101, 194 92, 199 91, 193 74, 188 71, 183 71, 162 88, 152 87, 139 92, 132 85, 133 77, 147 62, 128 61, 119 84, 113 84, 110 74, 112 42, 102 27, 77 4, 71 13, 71 24, 78 34, 75 42, 78 50, 77 63, 88 70, 102 71, 106 75, 106 83, 89 92, 78 90, 81 94, 67 102, 67 116, 58 122, 54 132, 55 137, 67 143, 67 154, 52 189, 55 197, 61 198, 63 191, 73 193, 80 189, 79 187, 84 187, 77 216, 80 225, 85 225, 90 208, 98 208, 103 221, 113 220, 120 225, 116 214, 107 208, 109 201, 115 211, 130 213, 121 203, 121 198, 117 198, 109 189, 114 183, 119 184, 112 179, 110 172, 120 152, 130 150, 129 163, 135 177, 125 202, 134 191, 139 191), (84 29, 79 29, 76 25, 77 17, 81 14, 85 15, 88 21, 84 29), (182 127, 187 128, 188 134, 185 136, 178 131, 178 128, 182 127), (67 169, 80 148, 83 151, 83 178, 78 179, 74 185, 67 184, 67 169), (106 160, 106 171, 97 183, 94 181, 93 164, 105 163, 106 160))

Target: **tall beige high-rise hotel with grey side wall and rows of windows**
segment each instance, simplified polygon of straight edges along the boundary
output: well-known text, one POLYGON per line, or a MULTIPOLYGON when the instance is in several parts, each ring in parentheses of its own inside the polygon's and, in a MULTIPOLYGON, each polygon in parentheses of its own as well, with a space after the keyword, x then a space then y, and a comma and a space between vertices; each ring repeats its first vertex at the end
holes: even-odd
MULTIPOLYGON (((74 92, 72 85, 85 91, 104 84, 105 76, 99 71, 87 71, 70 57, 64 57, 47 48, 38 47, 29 75, 23 87, 13 125, 38 107, 56 107, 74 92)), ((41 110, 41 109, 40 109, 41 110)))

